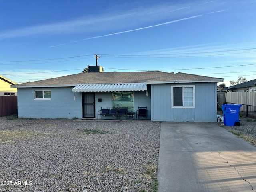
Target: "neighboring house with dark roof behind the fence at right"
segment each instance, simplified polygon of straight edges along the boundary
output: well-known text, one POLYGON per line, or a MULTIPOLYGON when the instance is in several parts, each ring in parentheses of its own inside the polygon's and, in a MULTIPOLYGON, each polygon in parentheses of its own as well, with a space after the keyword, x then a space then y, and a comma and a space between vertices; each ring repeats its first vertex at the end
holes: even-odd
POLYGON ((256 92, 256 79, 246 81, 234 86, 227 87, 221 91, 226 92, 256 92))

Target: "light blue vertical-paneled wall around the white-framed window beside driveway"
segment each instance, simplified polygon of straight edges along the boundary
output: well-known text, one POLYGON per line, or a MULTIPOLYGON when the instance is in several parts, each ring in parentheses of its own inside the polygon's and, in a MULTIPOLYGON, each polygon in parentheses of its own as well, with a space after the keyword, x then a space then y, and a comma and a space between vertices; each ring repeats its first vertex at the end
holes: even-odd
POLYGON ((151 85, 152 121, 216 122, 217 83, 184 84, 195 85, 195 108, 172 108, 172 85, 151 85))

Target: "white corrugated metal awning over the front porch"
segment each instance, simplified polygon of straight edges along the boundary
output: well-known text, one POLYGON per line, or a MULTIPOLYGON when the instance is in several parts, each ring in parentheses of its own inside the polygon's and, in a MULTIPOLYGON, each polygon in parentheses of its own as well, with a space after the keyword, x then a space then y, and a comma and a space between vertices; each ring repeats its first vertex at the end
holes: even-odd
POLYGON ((78 84, 73 92, 146 91, 146 83, 78 84))

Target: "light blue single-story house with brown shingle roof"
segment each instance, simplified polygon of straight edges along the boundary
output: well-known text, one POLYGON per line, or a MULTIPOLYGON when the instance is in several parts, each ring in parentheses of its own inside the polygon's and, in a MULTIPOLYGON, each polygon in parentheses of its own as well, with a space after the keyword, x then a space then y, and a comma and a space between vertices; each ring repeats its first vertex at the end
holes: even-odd
POLYGON ((135 113, 147 107, 152 121, 216 122, 216 88, 222 81, 186 73, 88 70, 12 87, 18 88, 19 118, 97 118, 102 107, 135 113))

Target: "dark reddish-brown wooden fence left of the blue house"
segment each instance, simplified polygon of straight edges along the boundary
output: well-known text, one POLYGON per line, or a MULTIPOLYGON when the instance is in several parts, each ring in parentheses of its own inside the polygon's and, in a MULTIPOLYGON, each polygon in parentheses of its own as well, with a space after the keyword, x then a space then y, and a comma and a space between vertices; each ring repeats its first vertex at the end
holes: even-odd
POLYGON ((0 96, 0 117, 17 113, 17 96, 0 96))

